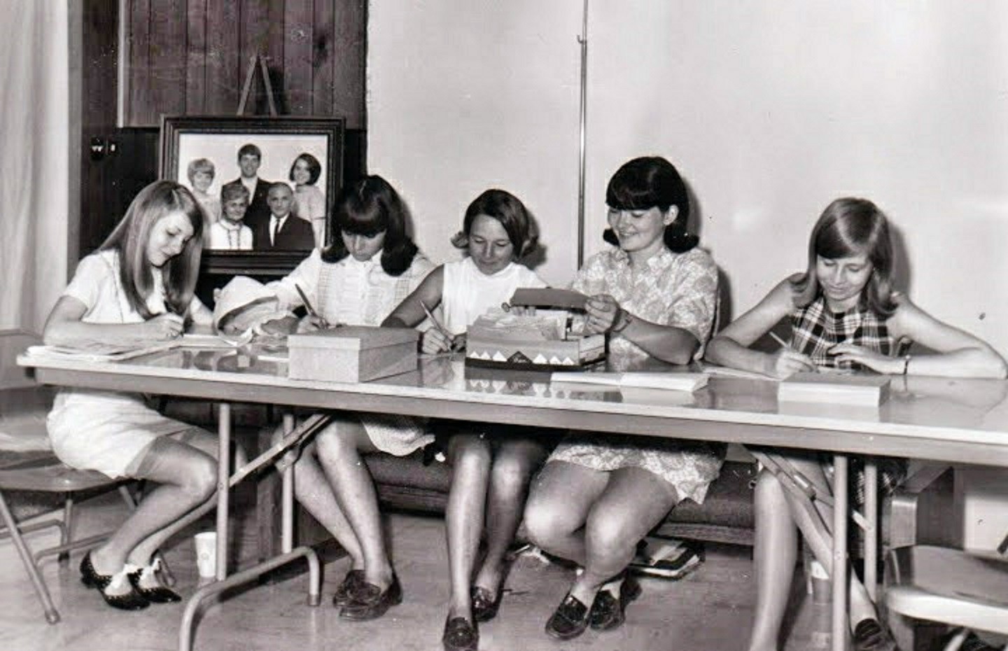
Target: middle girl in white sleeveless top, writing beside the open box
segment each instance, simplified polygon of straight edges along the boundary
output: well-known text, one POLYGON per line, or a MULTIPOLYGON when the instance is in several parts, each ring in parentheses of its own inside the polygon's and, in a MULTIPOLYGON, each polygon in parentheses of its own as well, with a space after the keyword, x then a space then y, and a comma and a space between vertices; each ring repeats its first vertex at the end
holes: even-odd
MULTIPOLYGON (((517 262, 535 248, 537 239, 522 203, 504 190, 488 189, 470 204, 463 231, 453 239, 469 255, 434 269, 382 324, 413 327, 423 321, 424 306, 432 310, 440 305, 448 333, 428 329, 422 336, 423 352, 460 348, 469 326, 489 308, 510 300, 515 289, 546 286, 517 262)), ((540 438, 515 428, 466 423, 459 429, 465 433, 453 431, 448 441, 453 465, 445 517, 452 580, 443 637, 448 651, 475 650, 476 623, 497 614, 504 554, 518 528, 528 482, 549 451, 540 438), (484 534, 487 551, 474 577, 484 534)))

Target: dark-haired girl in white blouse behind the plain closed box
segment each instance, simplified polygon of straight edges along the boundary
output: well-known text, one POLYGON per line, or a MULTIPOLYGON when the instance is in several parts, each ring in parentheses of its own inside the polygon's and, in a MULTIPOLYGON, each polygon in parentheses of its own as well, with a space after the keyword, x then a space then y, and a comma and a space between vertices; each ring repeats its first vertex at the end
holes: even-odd
MULTIPOLYGON (((409 295, 433 265, 406 235, 406 207, 381 176, 348 185, 337 198, 331 232, 339 236, 316 249, 296 269, 268 288, 281 308, 303 304, 318 316, 304 332, 338 324, 378 326, 409 295)), ((334 420, 295 466, 297 499, 343 545, 350 571, 333 596, 341 617, 370 620, 402 600, 385 548, 374 482, 362 454, 404 457, 433 440, 424 423, 406 416, 334 413, 334 420)))

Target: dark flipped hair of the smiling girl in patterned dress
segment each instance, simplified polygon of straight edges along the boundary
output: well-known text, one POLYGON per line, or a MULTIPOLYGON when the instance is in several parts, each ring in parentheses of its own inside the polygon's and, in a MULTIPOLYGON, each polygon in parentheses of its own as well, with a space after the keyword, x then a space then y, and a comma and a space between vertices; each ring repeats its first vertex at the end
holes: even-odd
MULTIPOLYGON (((661 156, 641 156, 623 163, 606 188, 606 204, 617 211, 647 211, 657 208, 666 213, 674 206, 675 220, 665 227, 665 246, 675 253, 684 253, 700 243, 686 226, 689 223, 689 194, 675 165, 661 156)), ((612 229, 602 237, 613 245, 619 240, 612 229)))

